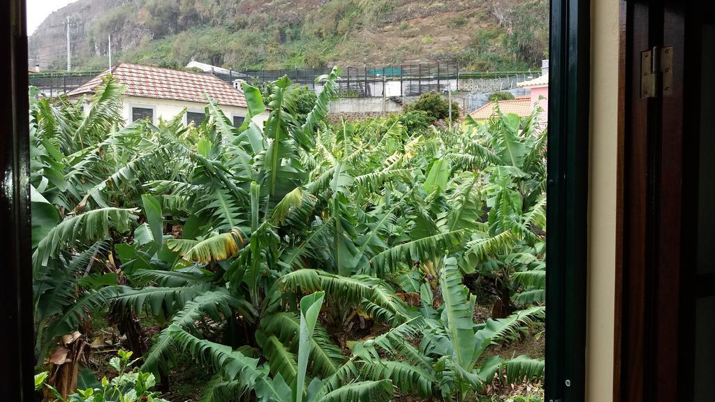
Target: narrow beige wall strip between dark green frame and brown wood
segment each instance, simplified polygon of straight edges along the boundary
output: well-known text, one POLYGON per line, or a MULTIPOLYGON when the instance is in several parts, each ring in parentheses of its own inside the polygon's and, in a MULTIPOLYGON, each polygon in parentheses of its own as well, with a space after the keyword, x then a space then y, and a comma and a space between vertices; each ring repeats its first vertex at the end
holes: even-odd
POLYGON ((618 0, 591 1, 586 401, 613 398, 618 0))

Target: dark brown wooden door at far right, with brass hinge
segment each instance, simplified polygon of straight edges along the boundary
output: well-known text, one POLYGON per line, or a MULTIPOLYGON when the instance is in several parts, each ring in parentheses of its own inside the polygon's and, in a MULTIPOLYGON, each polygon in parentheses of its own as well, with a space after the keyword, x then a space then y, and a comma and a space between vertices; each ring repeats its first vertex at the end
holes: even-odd
POLYGON ((701 391, 715 361, 704 339, 715 320, 715 132, 703 120, 715 116, 715 32, 705 8, 623 3, 616 401, 711 400, 701 391), (646 61, 655 93, 644 89, 646 61))

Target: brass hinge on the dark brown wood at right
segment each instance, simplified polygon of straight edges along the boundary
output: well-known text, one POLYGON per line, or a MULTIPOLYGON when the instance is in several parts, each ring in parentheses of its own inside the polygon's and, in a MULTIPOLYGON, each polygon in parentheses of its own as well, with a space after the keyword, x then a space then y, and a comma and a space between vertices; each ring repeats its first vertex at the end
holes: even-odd
POLYGON ((668 96, 673 91, 673 46, 641 52, 641 98, 668 96))

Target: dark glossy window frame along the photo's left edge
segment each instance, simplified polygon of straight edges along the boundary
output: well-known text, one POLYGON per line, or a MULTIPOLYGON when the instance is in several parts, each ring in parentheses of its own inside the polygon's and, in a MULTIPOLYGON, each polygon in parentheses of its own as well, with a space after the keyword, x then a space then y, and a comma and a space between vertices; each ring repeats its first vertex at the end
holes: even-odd
POLYGON ((27 93, 27 29, 24 0, 1 6, 0 80, 6 88, 0 99, 0 222, 9 241, 0 245, 8 284, 0 295, 0 314, 6 325, 6 345, 0 359, 0 393, 6 401, 34 401, 34 319, 31 263, 29 188, 29 99, 27 93))

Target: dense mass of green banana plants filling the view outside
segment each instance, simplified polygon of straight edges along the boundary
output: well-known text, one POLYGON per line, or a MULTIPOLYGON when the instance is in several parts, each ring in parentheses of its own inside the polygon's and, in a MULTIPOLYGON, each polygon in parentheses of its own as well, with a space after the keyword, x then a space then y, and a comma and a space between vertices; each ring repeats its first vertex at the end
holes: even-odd
POLYGON ((89 114, 35 99, 38 361, 109 306, 162 325, 144 371, 160 378, 182 354, 215 373, 204 401, 388 400, 395 387, 461 401, 495 377, 541 376, 526 357, 476 363, 543 318, 538 119, 328 124, 339 74, 300 116, 280 79, 265 124, 244 84, 242 127, 209 98, 198 127, 124 124, 112 78, 89 114), (475 272, 495 280, 504 318, 473 322, 475 272), (386 332, 356 340, 358 324, 386 332))

